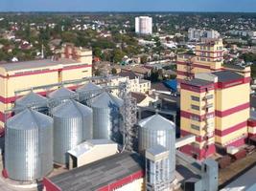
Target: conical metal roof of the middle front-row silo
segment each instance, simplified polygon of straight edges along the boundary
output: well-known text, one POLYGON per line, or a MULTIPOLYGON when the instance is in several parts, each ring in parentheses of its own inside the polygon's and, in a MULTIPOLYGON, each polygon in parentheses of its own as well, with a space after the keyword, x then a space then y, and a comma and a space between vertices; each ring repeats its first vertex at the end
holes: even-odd
POLYGON ((75 100, 67 100, 55 107, 52 114, 55 117, 81 117, 92 115, 92 109, 75 100))

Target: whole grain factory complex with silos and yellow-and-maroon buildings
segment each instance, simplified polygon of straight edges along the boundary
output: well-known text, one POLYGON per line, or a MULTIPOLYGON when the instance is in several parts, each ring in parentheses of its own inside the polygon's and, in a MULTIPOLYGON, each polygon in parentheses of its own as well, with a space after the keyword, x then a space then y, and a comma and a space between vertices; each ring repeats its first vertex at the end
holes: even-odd
POLYGON ((0 64, 3 177, 44 191, 217 191, 217 157, 256 136, 250 69, 222 57, 221 39, 178 55, 175 109, 149 80, 93 76, 92 51, 72 44, 0 64))

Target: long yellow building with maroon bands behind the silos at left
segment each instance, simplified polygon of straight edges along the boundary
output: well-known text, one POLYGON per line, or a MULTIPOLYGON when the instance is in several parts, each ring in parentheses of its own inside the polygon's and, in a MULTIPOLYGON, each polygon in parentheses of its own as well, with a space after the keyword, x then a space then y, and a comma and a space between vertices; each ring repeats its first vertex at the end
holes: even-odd
MULTIPOLYGON (((4 111, 11 109, 13 102, 27 93, 20 90, 40 86, 35 92, 41 96, 56 89, 47 86, 67 80, 82 79, 92 75, 92 52, 67 44, 61 56, 52 59, 33 60, 0 64, 0 126, 4 127, 7 117, 4 111)), ((76 84, 69 84, 73 89, 76 84)))

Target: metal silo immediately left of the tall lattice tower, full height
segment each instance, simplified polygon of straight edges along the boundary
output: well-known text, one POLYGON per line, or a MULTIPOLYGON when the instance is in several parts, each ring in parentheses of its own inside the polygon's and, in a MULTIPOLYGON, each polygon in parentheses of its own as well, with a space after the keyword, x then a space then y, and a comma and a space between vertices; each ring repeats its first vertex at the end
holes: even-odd
POLYGON ((112 139, 121 143, 120 108, 123 104, 122 99, 106 92, 92 99, 93 138, 112 139))

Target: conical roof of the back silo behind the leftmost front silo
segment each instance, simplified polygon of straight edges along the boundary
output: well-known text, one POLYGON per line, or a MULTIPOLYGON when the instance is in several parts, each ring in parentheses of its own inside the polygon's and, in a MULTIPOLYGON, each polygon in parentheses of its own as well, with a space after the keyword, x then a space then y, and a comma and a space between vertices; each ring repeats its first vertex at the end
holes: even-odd
POLYGON ((34 92, 31 92, 28 95, 22 96, 15 101, 15 104, 18 104, 20 106, 27 106, 33 103, 46 104, 47 98, 44 96, 37 95, 34 92))

